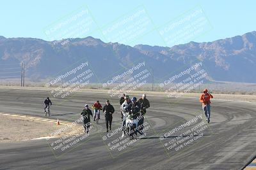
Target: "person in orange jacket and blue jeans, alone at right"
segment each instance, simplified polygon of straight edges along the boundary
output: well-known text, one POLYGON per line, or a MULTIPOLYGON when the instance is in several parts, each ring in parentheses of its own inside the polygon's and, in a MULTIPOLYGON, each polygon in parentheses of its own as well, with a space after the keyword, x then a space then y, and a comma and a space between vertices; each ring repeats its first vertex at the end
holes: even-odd
POLYGON ((204 110, 205 117, 207 118, 208 124, 210 123, 211 117, 211 101, 213 96, 208 92, 207 89, 204 89, 204 93, 200 96, 200 102, 202 103, 202 108, 204 110))

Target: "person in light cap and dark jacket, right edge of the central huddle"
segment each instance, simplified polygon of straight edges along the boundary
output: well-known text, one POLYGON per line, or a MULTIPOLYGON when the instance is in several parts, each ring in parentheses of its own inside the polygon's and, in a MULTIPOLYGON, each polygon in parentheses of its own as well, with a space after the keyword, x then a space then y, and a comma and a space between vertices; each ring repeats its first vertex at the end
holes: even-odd
POLYGON ((148 99, 146 98, 146 94, 143 94, 142 97, 138 100, 138 103, 140 103, 141 109, 140 109, 140 121, 138 123, 138 126, 140 127, 140 134, 143 134, 143 123, 144 123, 144 117, 147 112, 147 108, 150 107, 150 103, 148 99))

